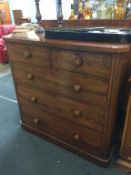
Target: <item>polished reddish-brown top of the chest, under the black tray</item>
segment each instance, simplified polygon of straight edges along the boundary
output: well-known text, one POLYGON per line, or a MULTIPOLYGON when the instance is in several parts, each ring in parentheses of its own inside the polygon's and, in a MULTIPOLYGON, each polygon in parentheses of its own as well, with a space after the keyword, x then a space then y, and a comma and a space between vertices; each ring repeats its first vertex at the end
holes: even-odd
MULTIPOLYGON (((98 42, 82 42, 71 40, 55 40, 46 39, 44 34, 34 35, 34 31, 27 33, 14 33, 13 35, 6 36, 8 41, 14 44, 25 45, 26 41, 32 46, 45 46, 61 49, 69 49, 69 51, 88 51, 97 53, 127 53, 130 51, 129 44, 114 44, 114 43, 98 43, 98 42), (40 42, 39 42, 40 41, 40 42)), ((8 43, 7 43, 8 44, 8 43)), ((15 45, 15 46, 16 46, 15 45)), ((28 48, 29 45, 25 45, 24 48, 28 48)), ((44 49, 45 49, 44 47, 44 49)), ((12 48, 13 49, 13 48, 12 48)), ((26 50, 23 50, 26 51, 26 50)), ((45 53, 45 52, 44 52, 45 53)))

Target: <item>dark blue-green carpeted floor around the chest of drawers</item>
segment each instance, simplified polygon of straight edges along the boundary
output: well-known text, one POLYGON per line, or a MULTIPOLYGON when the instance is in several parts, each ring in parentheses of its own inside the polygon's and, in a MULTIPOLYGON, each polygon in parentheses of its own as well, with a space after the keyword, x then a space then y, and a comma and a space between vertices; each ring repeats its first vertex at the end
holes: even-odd
POLYGON ((20 127, 11 75, 0 78, 0 175, 126 175, 72 154, 20 127), (6 97, 6 98, 3 98, 6 97))

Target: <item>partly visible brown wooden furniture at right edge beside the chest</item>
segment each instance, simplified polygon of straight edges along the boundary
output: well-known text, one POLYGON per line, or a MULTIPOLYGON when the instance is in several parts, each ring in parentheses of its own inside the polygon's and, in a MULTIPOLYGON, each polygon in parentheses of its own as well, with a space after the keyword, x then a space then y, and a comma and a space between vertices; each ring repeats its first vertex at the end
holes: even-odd
POLYGON ((118 167, 126 172, 131 172, 131 77, 129 78, 129 84, 130 92, 121 142, 120 159, 117 161, 118 167))

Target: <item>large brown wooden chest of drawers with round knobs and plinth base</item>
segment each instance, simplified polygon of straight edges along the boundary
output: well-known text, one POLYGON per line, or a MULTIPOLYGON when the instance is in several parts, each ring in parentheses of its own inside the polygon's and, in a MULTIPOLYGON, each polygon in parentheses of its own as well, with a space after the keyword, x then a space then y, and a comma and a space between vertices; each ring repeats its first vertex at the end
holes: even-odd
POLYGON ((22 126, 108 165, 129 45, 28 36, 5 37, 22 126))

